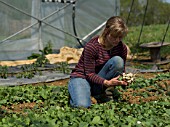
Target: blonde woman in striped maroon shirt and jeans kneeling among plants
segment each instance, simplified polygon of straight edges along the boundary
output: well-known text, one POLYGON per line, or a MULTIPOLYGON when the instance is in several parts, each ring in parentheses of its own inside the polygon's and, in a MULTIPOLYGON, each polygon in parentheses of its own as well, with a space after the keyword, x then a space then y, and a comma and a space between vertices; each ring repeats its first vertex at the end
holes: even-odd
POLYGON ((90 107, 91 96, 104 94, 108 87, 127 85, 118 80, 125 71, 127 48, 122 39, 127 32, 124 21, 113 16, 107 20, 101 35, 86 43, 68 84, 71 106, 90 107))

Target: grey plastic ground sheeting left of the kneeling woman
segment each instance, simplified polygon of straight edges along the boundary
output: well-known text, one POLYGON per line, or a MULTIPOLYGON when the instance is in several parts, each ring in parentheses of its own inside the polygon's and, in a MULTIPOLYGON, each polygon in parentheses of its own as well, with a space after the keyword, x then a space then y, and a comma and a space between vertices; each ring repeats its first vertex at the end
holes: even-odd
MULTIPOLYGON (((69 68, 73 69, 75 64, 70 64, 69 68)), ((16 85, 26 85, 35 83, 47 83, 52 81, 57 81, 61 79, 67 79, 70 77, 69 74, 63 73, 61 71, 55 70, 58 65, 46 64, 44 67, 38 67, 38 71, 32 78, 17 78, 17 74, 22 73, 22 66, 8 67, 8 77, 0 78, 0 86, 16 86, 16 85), (41 74, 40 74, 41 72, 41 74)))

